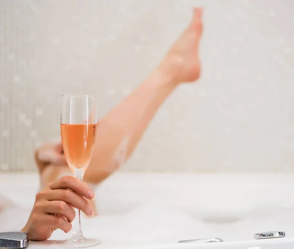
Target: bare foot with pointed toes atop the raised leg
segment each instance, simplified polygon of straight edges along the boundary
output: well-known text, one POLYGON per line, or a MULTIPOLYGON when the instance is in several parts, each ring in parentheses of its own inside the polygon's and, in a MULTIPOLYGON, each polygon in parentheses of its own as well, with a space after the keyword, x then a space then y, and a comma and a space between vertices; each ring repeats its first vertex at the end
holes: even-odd
POLYGON ((202 9, 194 8, 193 12, 192 22, 173 44, 161 65, 176 74, 177 83, 194 82, 200 76, 198 46, 202 34, 202 9))

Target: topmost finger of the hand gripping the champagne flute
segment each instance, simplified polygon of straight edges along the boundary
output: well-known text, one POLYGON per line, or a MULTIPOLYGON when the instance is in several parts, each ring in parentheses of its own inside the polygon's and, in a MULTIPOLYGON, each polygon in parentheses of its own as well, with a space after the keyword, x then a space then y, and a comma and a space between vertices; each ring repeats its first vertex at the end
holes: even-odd
POLYGON ((50 189, 70 189, 76 194, 82 195, 87 199, 93 199, 94 193, 87 184, 81 182, 73 176, 63 176, 49 185, 50 189))

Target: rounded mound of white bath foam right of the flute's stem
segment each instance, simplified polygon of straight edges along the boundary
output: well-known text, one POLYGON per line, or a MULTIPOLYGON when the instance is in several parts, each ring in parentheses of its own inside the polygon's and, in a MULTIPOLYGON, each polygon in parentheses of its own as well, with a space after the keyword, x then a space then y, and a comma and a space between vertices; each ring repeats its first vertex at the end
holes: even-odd
POLYGON ((117 229, 122 238, 142 243, 176 243, 207 236, 199 234, 199 231, 207 231, 203 222, 182 211, 152 203, 141 205, 125 215, 117 229))

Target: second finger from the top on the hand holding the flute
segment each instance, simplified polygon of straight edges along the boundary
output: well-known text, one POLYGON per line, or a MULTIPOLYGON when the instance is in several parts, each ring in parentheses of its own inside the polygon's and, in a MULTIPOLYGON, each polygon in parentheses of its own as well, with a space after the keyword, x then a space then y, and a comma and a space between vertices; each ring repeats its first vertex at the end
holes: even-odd
MULTIPOLYGON (((83 211, 88 216, 94 215, 90 203, 82 196, 70 190, 51 190, 46 192, 46 199, 49 201, 59 200, 71 204, 73 207, 83 211)), ((73 210, 73 209, 72 209, 73 210)), ((52 213, 52 212, 50 212, 52 213)))

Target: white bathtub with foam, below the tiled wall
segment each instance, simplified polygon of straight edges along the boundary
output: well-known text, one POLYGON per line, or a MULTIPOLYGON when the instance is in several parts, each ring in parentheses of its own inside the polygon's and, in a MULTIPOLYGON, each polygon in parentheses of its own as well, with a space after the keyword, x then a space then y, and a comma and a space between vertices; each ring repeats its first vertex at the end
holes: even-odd
MULTIPOLYGON (((0 192, 29 209, 38 187, 35 174, 0 175, 0 192)), ((99 217, 84 218, 85 235, 97 248, 293 249, 294 175, 117 173, 97 189, 99 217), (253 234, 285 231, 281 239, 253 234), (180 240, 221 238, 207 244, 180 240)), ((51 239, 68 237, 63 232, 51 239)), ((51 242, 29 248, 53 248, 51 242)))

